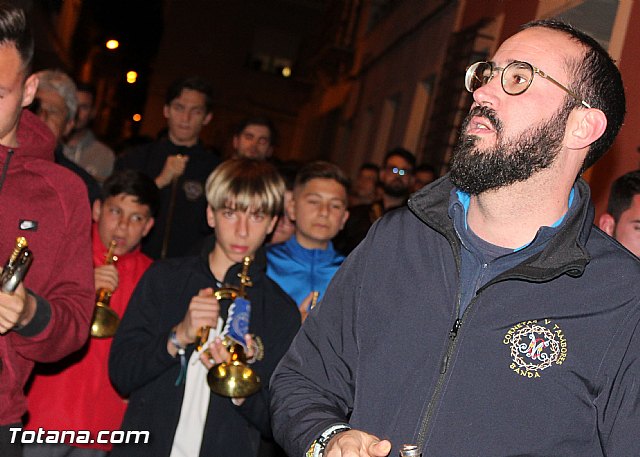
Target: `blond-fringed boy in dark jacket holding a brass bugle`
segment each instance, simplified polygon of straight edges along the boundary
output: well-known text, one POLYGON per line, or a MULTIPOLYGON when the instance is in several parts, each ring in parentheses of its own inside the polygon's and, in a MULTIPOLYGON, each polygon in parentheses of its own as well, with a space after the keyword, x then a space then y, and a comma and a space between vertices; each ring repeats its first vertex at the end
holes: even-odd
MULTIPOLYGON (((284 187, 267 162, 222 163, 205 187, 207 221, 216 235, 213 249, 156 262, 140 281, 114 339, 109 372, 116 388, 129 396, 122 429, 147 430, 150 438, 145 445, 115 446, 112 457, 249 457, 256 455, 260 435, 270 436, 267 383, 300 316, 266 276, 264 253, 256 251, 276 224, 284 187), (229 399, 212 394, 206 381, 212 362, 230 358, 220 339, 229 303, 218 302, 213 292, 223 284, 239 286, 247 256, 252 258, 251 285, 245 289, 251 303, 249 333, 263 346, 263 357, 251 366, 263 386, 247 398, 229 399), (200 354, 196 343, 202 327, 211 328, 208 341, 213 343, 200 354)), ((250 349, 248 356, 255 352, 250 349)))

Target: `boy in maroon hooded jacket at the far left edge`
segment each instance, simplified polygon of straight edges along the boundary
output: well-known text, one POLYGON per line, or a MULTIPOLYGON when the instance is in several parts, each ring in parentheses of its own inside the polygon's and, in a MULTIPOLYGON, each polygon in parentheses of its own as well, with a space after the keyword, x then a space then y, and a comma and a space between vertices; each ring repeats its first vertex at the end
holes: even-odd
POLYGON ((0 4, 0 262, 24 236, 33 264, 15 293, 0 291, 0 455, 21 456, 24 387, 35 362, 78 350, 93 310, 87 191, 53 163, 55 139, 33 113, 33 36, 16 4, 0 4), (12 442, 13 441, 13 442, 12 442), (18 442, 16 442, 18 441, 18 442))

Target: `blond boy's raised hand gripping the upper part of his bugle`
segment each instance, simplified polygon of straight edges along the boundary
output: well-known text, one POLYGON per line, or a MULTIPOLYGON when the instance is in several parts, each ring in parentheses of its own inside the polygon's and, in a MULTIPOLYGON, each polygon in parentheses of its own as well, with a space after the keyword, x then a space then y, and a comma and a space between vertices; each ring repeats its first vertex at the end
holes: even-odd
POLYGON ((213 289, 200 289, 198 295, 189 302, 184 319, 176 326, 176 338, 183 346, 195 342, 202 327, 218 326, 219 314, 220 304, 213 295, 213 289))

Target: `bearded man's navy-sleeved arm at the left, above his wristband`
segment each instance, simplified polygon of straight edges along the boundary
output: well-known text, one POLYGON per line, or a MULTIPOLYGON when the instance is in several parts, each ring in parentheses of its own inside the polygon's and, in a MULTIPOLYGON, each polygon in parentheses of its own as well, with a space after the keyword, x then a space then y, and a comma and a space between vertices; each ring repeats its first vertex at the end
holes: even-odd
MULTIPOLYGON (((358 371, 358 290, 365 241, 338 270, 271 378, 273 433, 289 455, 304 455, 332 427, 347 424, 358 371)), ((355 431, 350 435, 358 435, 355 431)))

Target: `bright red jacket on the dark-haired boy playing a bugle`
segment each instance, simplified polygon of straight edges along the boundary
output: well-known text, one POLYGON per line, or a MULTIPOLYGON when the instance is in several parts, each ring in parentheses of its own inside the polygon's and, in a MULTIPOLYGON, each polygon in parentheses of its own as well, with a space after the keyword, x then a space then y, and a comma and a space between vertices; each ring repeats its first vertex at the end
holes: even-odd
MULTIPOLYGON (((107 249, 102 245, 97 226, 93 227, 93 265, 104 265, 107 249)), ((120 317, 138 280, 151 265, 140 248, 118 256, 118 288, 109 305, 120 317)), ((109 380, 108 360, 112 338, 89 338, 88 344, 63 362, 55 364, 49 374, 38 374, 27 399, 29 420, 25 428, 38 430, 88 430, 92 438, 99 430, 118 430, 127 404, 109 380)), ((45 367, 46 368, 46 367, 45 367)), ((49 367, 51 368, 51 367, 49 367)), ((110 450, 108 444, 78 447, 110 450)))

